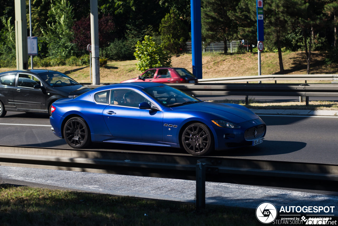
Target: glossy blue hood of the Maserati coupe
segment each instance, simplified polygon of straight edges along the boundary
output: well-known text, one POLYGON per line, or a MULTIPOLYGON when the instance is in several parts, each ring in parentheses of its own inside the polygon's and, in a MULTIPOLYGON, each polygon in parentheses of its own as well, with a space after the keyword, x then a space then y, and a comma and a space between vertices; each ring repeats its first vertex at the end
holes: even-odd
POLYGON ((194 104, 187 104, 184 106, 179 107, 172 107, 173 110, 197 110, 202 112, 208 112, 215 116, 224 118, 225 120, 234 122, 234 123, 241 123, 246 122, 249 120, 258 119, 259 117, 255 115, 249 109, 244 109, 243 106, 238 105, 224 105, 224 104, 217 104, 212 102, 200 102, 194 104))

